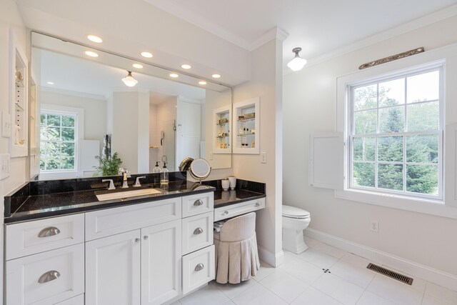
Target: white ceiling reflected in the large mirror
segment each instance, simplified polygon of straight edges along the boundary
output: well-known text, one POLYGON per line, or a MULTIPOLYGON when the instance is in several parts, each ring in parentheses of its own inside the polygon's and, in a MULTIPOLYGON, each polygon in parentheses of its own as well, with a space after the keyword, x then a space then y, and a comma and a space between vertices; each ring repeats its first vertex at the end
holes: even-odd
POLYGON ((134 72, 138 84, 129 89, 121 81, 127 75, 126 70, 46 50, 34 49, 33 54, 35 59, 41 58, 41 86, 49 91, 68 91, 102 99, 107 99, 112 91, 154 91, 158 93, 156 96, 184 96, 195 101, 205 99, 205 89, 176 81, 134 72), (48 81, 54 85, 47 84, 48 81))

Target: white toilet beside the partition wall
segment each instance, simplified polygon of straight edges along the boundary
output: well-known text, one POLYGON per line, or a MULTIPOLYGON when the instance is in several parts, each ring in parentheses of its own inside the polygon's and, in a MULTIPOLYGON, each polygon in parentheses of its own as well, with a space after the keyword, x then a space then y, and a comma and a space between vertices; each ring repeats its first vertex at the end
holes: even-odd
POLYGON ((295 254, 308 249, 303 240, 303 230, 308 227, 309 221, 308 211, 283 205, 283 249, 295 254))

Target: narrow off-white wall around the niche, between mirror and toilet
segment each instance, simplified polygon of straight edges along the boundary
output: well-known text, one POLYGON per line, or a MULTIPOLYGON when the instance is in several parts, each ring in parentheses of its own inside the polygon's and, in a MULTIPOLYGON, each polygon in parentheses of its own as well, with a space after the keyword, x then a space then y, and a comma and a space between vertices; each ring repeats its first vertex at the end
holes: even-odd
POLYGON ((266 209, 257 212, 259 255, 268 264, 280 265, 282 252, 282 42, 274 39, 252 52, 252 80, 233 89, 233 103, 260 97, 260 155, 234 154, 233 174, 241 179, 266 183, 266 209), (276 66, 272 63, 276 62, 276 66))

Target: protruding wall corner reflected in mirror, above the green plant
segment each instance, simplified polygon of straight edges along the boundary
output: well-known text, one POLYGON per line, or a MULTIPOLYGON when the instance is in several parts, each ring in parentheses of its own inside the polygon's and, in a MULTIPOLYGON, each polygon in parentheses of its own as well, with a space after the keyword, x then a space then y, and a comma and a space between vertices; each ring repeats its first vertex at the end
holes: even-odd
POLYGON ((149 93, 114 92, 112 104, 111 154, 117 152, 121 167, 132 174, 149 172, 149 93))

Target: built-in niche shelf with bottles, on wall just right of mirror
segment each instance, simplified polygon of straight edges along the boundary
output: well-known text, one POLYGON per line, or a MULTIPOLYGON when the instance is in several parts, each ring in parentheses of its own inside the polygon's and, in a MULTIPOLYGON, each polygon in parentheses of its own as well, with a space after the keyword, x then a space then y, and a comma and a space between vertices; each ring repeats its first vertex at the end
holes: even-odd
POLYGON ((260 99, 258 97, 233 104, 233 154, 259 154, 260 99))

